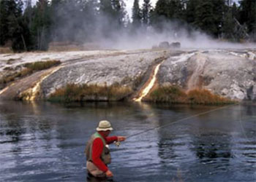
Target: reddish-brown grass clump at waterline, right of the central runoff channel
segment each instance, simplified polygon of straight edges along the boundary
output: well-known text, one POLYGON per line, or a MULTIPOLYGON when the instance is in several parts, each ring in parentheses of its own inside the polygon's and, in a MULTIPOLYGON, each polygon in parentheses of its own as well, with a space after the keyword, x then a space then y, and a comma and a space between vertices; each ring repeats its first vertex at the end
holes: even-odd
POLYGON ((214 95, 208 90, 190 90, 188 93, 176 86, 162 86, 154 89, 145 99, 151 102, 219 105, 235 103, 234 100, 214 95))

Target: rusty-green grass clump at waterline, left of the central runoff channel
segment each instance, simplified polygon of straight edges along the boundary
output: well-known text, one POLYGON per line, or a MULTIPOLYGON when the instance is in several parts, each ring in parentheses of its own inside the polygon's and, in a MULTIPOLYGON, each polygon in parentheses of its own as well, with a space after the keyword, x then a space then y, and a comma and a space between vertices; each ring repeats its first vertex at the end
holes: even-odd
POLYGON ((123 87, 120 84, 110 86, 97 84, 67 84, 50 95, 48 100, 57 102, 81 102, 81 101, 117 101, 124 100, 132 94, 131 87, 123 87))

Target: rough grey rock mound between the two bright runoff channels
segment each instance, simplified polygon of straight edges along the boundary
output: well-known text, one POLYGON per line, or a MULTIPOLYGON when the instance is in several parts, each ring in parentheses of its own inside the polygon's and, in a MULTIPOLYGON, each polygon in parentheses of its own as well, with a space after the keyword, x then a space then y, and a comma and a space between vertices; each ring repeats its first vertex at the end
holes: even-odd
POLYGON ((165 56, 165 52, 139 52, 91 59, 69 64, 48 76, 41 88, 45 96, 66 84, 123 84, 132 85, 135 79, 144 76, 154 62, 165 56))

